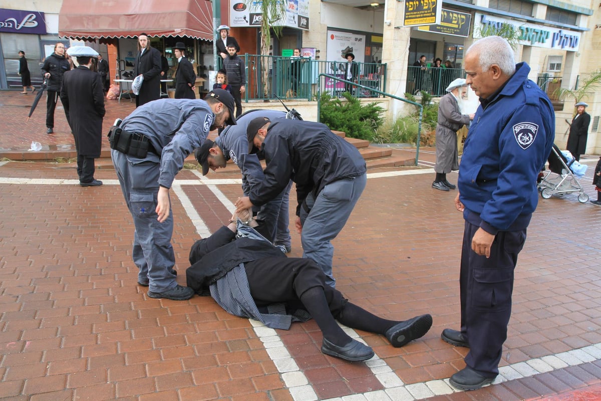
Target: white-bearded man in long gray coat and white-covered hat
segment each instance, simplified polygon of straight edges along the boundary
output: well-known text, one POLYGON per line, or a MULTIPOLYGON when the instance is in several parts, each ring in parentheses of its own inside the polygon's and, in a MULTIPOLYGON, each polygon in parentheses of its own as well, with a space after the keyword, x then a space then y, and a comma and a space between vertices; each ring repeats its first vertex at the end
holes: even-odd
POLYGON ((469 121, 474 114, 461 114, 462 97, 467 90, 465 79, 457 78, 447 87, 447 94, 438 103, 438 124, 436 124, 436 179, 432 188, 448 191, 456 186, 447 181, 447 173, 459 170, 457 152, 457 130, 469 121))

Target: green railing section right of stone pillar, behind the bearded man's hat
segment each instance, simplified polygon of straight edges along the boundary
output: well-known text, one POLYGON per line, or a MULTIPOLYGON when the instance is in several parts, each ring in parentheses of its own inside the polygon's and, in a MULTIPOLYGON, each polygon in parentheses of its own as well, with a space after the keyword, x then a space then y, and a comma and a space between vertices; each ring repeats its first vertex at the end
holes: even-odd
POLYGON ((406 92, 419 95, 419 92, 426 91, 435 97, 444 96, 447 94, 445 89, 454 79, 464 77, 463 69, 409 66, 406 92))

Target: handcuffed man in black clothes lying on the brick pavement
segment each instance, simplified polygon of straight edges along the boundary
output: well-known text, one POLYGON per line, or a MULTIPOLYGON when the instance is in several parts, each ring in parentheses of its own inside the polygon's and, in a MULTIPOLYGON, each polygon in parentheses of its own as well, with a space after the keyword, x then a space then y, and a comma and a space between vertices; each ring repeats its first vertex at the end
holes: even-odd
POLYGON ((238 220, 198 240, 186 270, 188 286, 211 295, 228 313, 261 320, 270 328, 288 329, 291 322, 313 317, 323 334, 322 352, 349 361, 368 360, 374 352, 335 320, 383 334, 395 347, 422 337, 432 326, 429 314, 400 322, 352 304, 325 284, 326 276, 313 260, 286 257, 260 234, 260 225, 255 228, 238 220))

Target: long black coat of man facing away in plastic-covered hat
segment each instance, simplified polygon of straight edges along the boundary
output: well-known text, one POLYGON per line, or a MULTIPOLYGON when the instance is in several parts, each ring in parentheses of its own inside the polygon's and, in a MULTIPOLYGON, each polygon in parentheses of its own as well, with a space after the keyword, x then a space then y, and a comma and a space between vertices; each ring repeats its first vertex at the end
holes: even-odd
POLYGON ((99 158, 105 97, 100 74, 79 66, 63 76, 61 102, 73 130, 78 155, 99 158))

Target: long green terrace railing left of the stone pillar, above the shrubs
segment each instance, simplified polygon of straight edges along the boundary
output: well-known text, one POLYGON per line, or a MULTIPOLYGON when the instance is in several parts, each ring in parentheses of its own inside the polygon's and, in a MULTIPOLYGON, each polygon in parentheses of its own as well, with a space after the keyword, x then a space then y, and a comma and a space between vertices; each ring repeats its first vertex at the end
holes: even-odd
MULTIPOLYGON (((275 95, 286 99, 313 100, 323 90, 332 96, 341 96, 347 87, 338 78, 344 78, 346 61, 321 61, 310 58, 275 57, 243 54, 240 58, 246 68, 246 93, 243 100, 275 100, 275 95), (320 82, 319 76, 331 75, 335 80, 320 82), (323 87, 319 85, 323 84, 323 87)), ((353 91, 356 97, 377 97, 386 85, 386 64, 357 63, 359 78, 353 91)), ((218 69, 222 60, 218 60, 218 69)))

